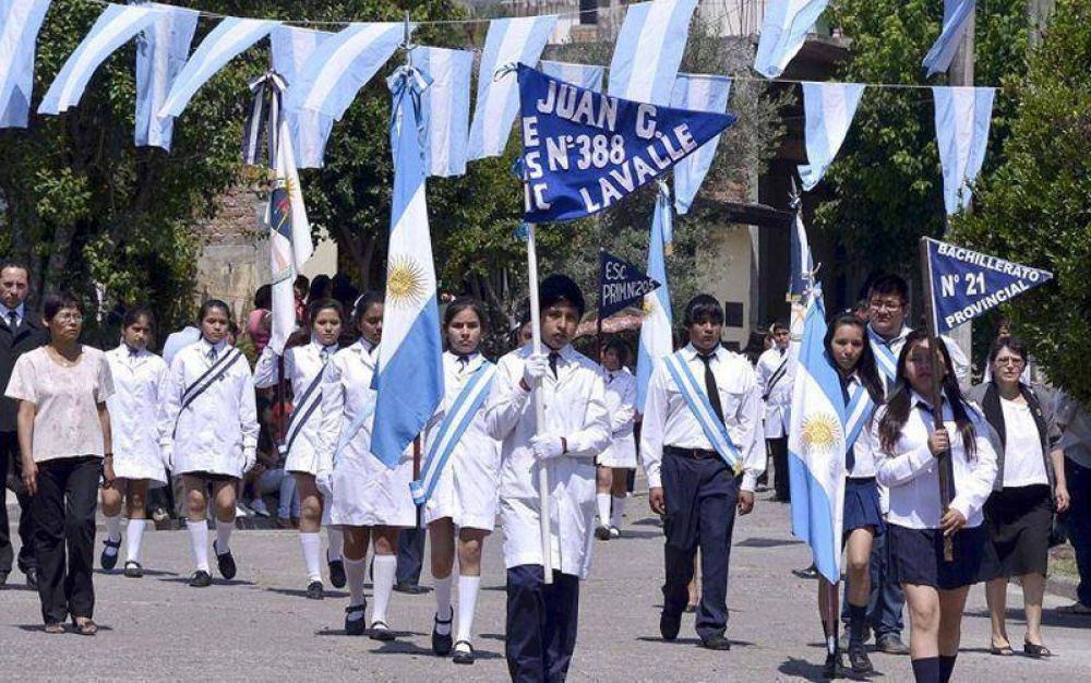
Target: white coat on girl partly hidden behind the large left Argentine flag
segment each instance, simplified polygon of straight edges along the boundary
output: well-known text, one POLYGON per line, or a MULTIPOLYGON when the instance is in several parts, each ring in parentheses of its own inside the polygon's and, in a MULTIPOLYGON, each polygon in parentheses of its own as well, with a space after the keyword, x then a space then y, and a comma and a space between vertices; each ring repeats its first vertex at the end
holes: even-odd
MULTIPOLYGON (((403 453, 393 469, 371 454, 372 412, 359 431, 336 454, 343 429, 364 411, 373 411, 371 388, 379 361, 377 347, 369 350, 360 339, 334 355, 322 380, 322 422, 319 426, 317 474, 333 471, 332 505, 324 522, 353 527, 417 526, 417 508, 409 492, 412 455, 403 453), (336 462, 335 462, 336 455, 336 462)), ((370 345, 368 345, 370 346, 370 345)))

